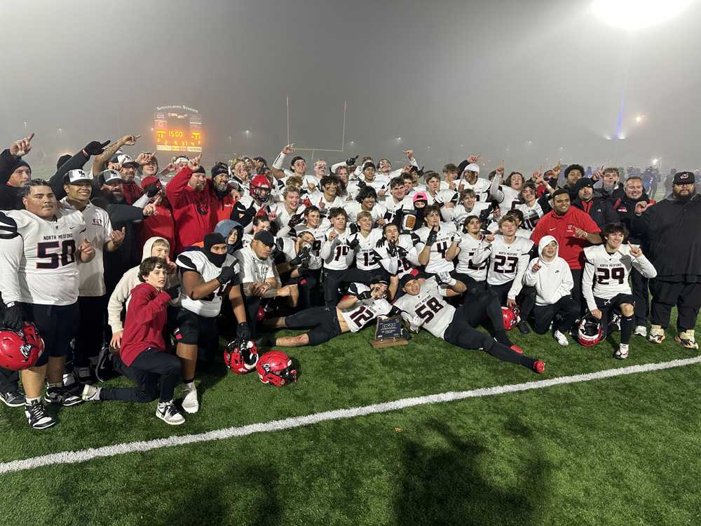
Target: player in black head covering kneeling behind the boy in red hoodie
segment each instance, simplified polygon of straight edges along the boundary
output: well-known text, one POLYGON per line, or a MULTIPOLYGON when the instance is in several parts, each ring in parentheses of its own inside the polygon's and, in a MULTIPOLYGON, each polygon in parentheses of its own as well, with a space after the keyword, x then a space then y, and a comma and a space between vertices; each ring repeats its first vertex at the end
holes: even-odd
POLYGON ((185 397, 182 408, 189 413, 199 410, 195 386, 198 344, 210 350, 219 349, 215 323, 222 309, 222 299, 231 302, 238 327, 236 335, 250 337, 238 279, 238 262, 227 251, 222 234, 207 234, 203 248, 192 247, 175 260, 182 281, 180 308, 175 319, 176 353, 182 363, 185 397))

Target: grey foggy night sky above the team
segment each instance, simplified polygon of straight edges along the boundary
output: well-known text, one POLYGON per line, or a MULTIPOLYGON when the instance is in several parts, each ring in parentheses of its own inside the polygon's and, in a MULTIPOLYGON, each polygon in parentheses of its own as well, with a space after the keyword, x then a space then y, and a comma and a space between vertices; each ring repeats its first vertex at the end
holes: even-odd
POLYGON ((36 133, 32 166, 127 133, 153 150, 155 108, 186 104, 207 168, 234 153, 271 163, 289 97, 290 140, 343 149, 314 152, 331 162, 411 147, 439 170, 472 153, 507 170, 697 168, 699 2, 634 33, 590 4, 3 0, 0 146, 36 133))

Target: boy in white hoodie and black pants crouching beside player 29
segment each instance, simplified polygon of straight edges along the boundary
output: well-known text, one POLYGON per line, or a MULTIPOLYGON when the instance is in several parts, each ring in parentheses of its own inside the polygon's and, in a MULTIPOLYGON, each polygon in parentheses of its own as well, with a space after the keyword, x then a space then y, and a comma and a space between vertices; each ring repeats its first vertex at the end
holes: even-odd
POLYGON ((579 305, 570 295, 574 285, 572 272, 557 252, 555 238, 543 236, 538 243, 539 257, 531 259, 524 284, 536 289, 533 330, 543 335, 552 322, 552 337, 564 347, 569 345, 566 333, 577 319, 579 305))

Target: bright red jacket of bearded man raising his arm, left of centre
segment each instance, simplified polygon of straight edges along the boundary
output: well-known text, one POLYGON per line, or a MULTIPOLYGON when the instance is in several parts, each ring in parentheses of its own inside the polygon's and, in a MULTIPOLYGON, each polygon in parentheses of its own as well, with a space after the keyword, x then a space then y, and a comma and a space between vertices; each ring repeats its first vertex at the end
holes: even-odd
POLYGON ((172 258, 186 247, 202 241, 205 234, 217 226, 217 196, 212 180, 207 179, 205 189, 196 191, 189 187, 192 170, 184 166, 165 187, 165 195, 173 210, 175 221, 175 252, 172 258))

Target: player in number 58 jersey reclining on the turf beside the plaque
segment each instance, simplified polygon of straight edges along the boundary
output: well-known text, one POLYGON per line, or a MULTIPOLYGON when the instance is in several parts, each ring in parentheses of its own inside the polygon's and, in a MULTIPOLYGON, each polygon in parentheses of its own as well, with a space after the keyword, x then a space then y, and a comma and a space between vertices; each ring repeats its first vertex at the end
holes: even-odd
POLYGON ((426 279, 406 274, 400 280, 400 296, 394 306, 402 313, 412 331, 422 327, 437 338, 463 349, 483 349, 495 358, 518 363, 535 372, 544 372, 545 363, 524 355, 514 346, 504 330, 501 307, 494 292, 486 291, 470 298, 458 309, 444 297, 465 292, 465 285, 447 273, 426 279), (494 337, 475 327, 488 318, 494 337))

